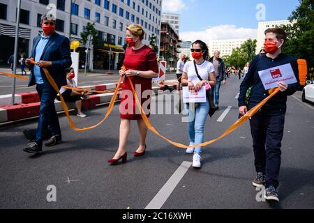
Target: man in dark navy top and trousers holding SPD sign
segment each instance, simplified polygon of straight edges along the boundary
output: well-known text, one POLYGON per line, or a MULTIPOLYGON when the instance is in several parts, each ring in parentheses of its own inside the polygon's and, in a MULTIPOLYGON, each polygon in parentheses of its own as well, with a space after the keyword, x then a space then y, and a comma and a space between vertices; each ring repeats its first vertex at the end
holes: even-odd
POLYGON ((281 140, 283 139, 287 95, 295 93, 299 86, 297 59, 281 52, 286 38, 287 34, 283 29, 273 28, 265 31, 264 49, 267 54, 255 56, 241 83, 239 95, 239 112, 244 115, 249 109, 269 96, 268 91, 264 89, 258 71, 285 64, 292 66, 297 83, 287 85, 284 82, 279 82, 280 92, 271 98, 250 121, 257 172, 257 177, 252 183, 255 187, 265 186, 264 198, 274 201, 279 201, 277 188, 281 167, 281 140), (252 86, 251 98, 246 105, 246 90, 250 86, 252 86))

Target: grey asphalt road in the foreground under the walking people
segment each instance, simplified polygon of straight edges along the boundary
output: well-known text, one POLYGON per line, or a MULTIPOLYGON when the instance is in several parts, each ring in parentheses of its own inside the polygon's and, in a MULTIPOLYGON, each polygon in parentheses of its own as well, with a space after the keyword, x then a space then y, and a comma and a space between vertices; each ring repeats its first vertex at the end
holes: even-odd
MULTIPOLYGON (((205 139, 218 137, 237 119, 235 97, 239 84, 239 79, 232 77, 222 86, 220 111, 207 120, 205 139), (228 106, 232 106, 230 112, 218 122, 228 106)), ((202 169, 180 167, 189 164, 192 156, 152 132, 147 138, 146 155, 133 157, 138 133, 136 123, 132 123, 128 162, 110 166, 107 159, 114 155, 119 143, 116 106, 103 125, 88 132, 74 132, 61 115, 63 143, 44 148, 40 156, 22 151, 27 145, 22 130, 36 128, 37 120, 1 127, 0 208, 142 209, 155 202, 155 196, 159 198, 155 203, 165 209, 314 208, 314 108, 299 98, 300 93, 287 102, 279 187, 281 203, 256 199, 258 192, 251 185, 255 168, 248 123, 204 148, 202 169), (57 188, 56 202, 47 202, 48 185, 57 188), (162 188, 164 193, 160 194, 162 188), (165 196, 167 193, 169 196, 165 196)), ((72 113, 73 119, 79 127, 87 127, 100 121, 106 109, 87 111, 87 118, 72 113)), ((150 120, 169 139, 188 144, 186 123, 181 122, 180 115, 152 115, 150 120)))

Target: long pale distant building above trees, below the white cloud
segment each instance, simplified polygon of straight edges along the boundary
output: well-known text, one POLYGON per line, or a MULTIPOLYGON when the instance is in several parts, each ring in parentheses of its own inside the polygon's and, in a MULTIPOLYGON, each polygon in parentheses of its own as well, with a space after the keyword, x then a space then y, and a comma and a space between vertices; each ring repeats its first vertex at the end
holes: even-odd
POLYGON ((214 56, 216 50, 220 51, 220 56, 230 56, 232 50, 240 47, 248 39, 232 39, 232 40, 210 40, 209 54, 214 56))

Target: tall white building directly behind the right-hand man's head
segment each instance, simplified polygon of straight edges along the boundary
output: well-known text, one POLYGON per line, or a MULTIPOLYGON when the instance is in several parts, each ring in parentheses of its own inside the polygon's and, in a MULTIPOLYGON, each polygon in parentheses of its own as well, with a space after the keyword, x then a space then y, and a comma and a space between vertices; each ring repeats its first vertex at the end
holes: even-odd
POLYGON ((268 21, 259 22, 257 29, 257 47, 256 54, 260 52, 260 49, 264 49, 265 34, 264 31, 269 28, 274 28, 276 26, 291 24, 289 20, 279 20, 279 21, 268 21))

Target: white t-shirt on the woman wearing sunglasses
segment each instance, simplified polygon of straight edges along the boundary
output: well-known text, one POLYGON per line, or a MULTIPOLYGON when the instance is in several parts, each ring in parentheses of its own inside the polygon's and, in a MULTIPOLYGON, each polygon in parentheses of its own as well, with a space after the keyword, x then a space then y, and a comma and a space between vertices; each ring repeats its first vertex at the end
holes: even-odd
MULTIPOLYGON (((209 61, 204 61, 204 63, 198 65, 196 64, 198 74, 202 77, 203 80, 209 80, 209 73, 215 72, 215 68, 213 63, 209 61)), ((184 66, 184 72, 188 74, 188 81, 193 82, 193 84, 197 84, 200 82, 200 79, 196 75, 194 62, 188 61, 184 66)))

